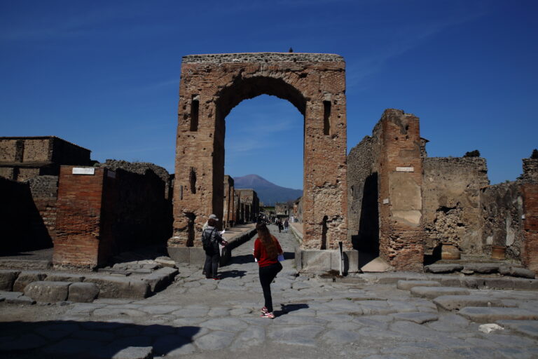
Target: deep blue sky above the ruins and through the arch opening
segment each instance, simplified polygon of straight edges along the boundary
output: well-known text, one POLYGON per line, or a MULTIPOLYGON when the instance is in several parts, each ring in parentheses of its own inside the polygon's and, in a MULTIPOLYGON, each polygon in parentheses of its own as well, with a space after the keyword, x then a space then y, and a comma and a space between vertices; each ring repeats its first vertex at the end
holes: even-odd
MULTIPOLYGON (((429 156, 478 149, 492 183, 513 180, 538 147, 537 14, 532 0, 0 0, 0 136, 173 172, 181 57, 292 47, 345 58, 348 151, 403 109, 429 156)), ((239 104, 226 173, 302 188, 302 121, 276 97, 239 104)))

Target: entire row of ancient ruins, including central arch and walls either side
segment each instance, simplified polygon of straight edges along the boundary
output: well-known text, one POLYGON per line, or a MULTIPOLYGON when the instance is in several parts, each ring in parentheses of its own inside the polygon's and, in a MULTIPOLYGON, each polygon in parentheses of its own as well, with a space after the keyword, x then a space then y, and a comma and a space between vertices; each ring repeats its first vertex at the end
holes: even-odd
POLYGON ((347 272, 375 258, 382 270, 422 271, 448 252, 538 270, 537 156, 523 159, 515 181, 490 185, 485 158, 428 157, 419 118, 398 109, 346 156, 345 62, 304 53, 185 56, 175 175, 96 163, 57 137, 0 137, 1 251, 53 247, 55 265, 95 269, 158 244, 176 262, 200 262, 210 213, 221 229, 259 214, 256 191, 235 188, 223 165, 226 116, 261 94, 304 116, 303 197, 275 208, 301 222, 299 271, 337 269, 339 242, 347 272))

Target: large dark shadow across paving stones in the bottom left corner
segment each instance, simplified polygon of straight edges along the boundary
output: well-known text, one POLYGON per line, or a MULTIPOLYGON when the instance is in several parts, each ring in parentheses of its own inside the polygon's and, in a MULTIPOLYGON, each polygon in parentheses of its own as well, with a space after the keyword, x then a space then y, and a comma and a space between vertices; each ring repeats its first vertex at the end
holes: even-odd
POLYGON ((142 351, 150 346, 153 354, 166 355, 191 344, 198 332, 200 327, 98 321, 3 322, 0 357, 116 358, 120 351, 142 351), (130 347, 135 348, 127 349, 130 347))

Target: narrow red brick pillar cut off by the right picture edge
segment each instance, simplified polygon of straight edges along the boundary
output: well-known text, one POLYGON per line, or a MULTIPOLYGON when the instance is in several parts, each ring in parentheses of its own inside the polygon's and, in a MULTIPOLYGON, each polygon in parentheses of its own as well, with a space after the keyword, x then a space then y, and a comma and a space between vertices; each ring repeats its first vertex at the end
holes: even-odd
POLYGON ((531 271, 538 272, 538 184, 523 184, 523 253, 521 259, 531 271))

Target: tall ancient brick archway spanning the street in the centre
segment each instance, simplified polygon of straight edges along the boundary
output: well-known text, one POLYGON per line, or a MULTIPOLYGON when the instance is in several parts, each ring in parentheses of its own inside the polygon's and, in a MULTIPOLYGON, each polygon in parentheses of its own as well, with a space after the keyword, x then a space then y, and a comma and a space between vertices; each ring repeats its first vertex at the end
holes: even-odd
POLYGON ((187 55, 181 65, 169 247, 198 247, 207 215, 223 215, 225 118, 261 94, 303 114, 303 249, 347 241, 345 62, 331 54, 187 55), (322 245, 322 237, 324 243, 322 245))

